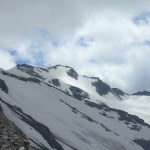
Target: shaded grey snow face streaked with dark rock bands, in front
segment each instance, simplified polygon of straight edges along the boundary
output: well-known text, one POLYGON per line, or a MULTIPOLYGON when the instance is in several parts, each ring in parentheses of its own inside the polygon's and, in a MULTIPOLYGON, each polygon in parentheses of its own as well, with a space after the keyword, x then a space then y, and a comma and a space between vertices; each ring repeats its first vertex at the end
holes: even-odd
POLYGON ((3 71, 0 79, 8 88, 8 93, 0 91, 3 112, 37 149, 148 150, 150 147, 150 126, 136 116, 104 103, 80 101, 35 78, 3 71))

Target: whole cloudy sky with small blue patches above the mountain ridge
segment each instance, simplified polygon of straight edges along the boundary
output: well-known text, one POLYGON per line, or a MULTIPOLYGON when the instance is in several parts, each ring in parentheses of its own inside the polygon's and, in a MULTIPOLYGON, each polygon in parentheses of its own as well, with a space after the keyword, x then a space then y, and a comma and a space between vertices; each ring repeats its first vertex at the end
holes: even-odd
POLYGON ((149 0, 0 0, 0 68, 68 65, 150 91, 149 0))

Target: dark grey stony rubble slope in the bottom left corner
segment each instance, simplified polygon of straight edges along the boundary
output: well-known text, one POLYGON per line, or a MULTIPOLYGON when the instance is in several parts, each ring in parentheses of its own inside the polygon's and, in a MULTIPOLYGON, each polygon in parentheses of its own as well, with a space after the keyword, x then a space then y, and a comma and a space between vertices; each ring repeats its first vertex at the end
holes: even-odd
POLYGON ((3 114, 0 106, 0 150, 33 150, 28 139, 3 114))

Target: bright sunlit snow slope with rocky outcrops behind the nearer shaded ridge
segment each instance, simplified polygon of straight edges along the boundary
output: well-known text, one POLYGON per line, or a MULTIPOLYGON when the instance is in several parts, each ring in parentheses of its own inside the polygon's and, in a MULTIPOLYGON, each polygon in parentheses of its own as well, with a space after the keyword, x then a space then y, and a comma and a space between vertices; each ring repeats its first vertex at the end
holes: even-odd
POLYGON ((23 64, 17 65, 8 72, 18 76, 37 78, 80 100, 96 103, 102 101, 112 108, 138 115, 150 124, 149 96, 126 94, 120 89, 111 88, 98 78, 79 75, 71 67, 56 65, 49 68, 39 68, 23 64), (97 88, 93 86, 93 83, 97 84, 97 88))

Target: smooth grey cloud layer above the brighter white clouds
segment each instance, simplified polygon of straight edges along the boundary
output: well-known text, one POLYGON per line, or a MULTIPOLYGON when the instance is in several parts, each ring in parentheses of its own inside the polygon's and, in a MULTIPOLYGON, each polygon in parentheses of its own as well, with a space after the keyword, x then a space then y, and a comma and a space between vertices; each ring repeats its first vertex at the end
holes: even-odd
POLYGON ((147 3, 139 0, 0 0, 0 29, 4 36, 25 34, 39 27, 46 28, 53 36, 72 34, 94 13, 107 10, 127 14, 141 10, 143 5, 148 7, 147 3))

